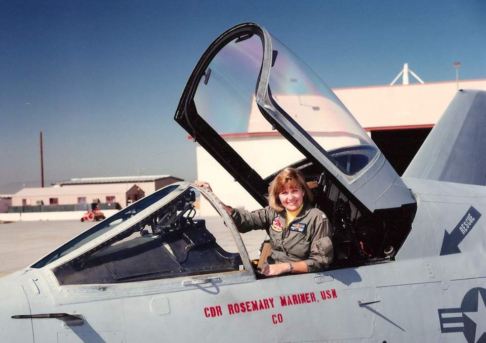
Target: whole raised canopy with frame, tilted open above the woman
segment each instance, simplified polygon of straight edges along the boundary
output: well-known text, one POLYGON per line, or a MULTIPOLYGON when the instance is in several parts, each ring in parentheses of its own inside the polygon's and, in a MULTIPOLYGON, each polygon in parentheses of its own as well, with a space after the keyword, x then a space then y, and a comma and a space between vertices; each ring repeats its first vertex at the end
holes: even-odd
POLYGON ((218 37, 196 65, 175 120, 260 204, 268 177, 307 160, 373 212, 414 203, 379 149, 331 89, 278 39, 253 23, 218 37), (255 151, 234 134, 283 136, 255 151), (253 154, 252 165, 246 154, 253 154), (257 162, 255 162, 257 161, 257 162))

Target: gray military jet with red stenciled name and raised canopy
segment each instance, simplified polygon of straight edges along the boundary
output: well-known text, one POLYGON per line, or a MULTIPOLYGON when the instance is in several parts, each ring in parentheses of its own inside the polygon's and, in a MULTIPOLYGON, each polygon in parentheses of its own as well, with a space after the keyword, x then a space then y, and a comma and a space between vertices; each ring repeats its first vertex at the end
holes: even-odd
MULTIPOLYGON (((263 277, 218 198, 176 183, 2 278, 0 341, 485 342, 484 115, 486 92, 459 91, 400 178, 299 58, 237 25, 175 120, 262 206, 273 175, 225 133, 265 123, 301 154, 289 164, 333 225, 330 269, 263 277)), ((271 146, 258 154, 276 173, 290 153, 271 146)))

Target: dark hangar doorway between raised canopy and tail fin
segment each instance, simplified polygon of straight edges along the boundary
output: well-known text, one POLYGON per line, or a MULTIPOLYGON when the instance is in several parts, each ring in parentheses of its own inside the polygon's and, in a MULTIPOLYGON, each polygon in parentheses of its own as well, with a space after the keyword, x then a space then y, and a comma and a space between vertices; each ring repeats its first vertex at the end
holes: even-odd
POLYGON ((407 169, 433 127, 424 126, 371 130, 371 139, 399 176, 407 169))

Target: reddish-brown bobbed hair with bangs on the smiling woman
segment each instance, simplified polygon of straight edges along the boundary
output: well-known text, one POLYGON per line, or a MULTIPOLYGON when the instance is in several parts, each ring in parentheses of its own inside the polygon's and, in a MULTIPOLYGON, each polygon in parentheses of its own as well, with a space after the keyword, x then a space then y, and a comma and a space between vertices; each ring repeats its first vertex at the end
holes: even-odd
POLYGON ((298 187, 302 189, 304 191, 304 200, 307 202, 312 202, 314 200, 312 191, 309 189, 309 186, 307 186, 302 172, 296 168, 285 168, 278 173, 268 188, 268 204, 277 212, 284 210, 284 206, 282 206, 278 194, 284 191, 287 187, 298 187))

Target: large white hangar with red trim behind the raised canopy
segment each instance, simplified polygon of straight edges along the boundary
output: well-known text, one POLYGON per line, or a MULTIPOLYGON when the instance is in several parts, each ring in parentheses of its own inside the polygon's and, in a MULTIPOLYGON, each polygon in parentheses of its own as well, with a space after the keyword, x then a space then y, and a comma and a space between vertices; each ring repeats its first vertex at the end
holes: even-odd
MULTIPOLYGON (((333 91, 401 175, 458 88, 486 91, 486 79, 461 80, 459 83, 446 81, 352 87, 333 91)), ((284 98, 278 98, 280 104, 286 102, 284 98)), ((300 106, 297 107, 295 101, 288 100, 289 106, 294 108, 289 110, 289 106, 286 107, 287 112, 291 115, 298 113, 299 123, 307 120, 305 128, 312 127, 317 136, 319 131, 325 131, 323 128, 326 124, 314 122, 313 117, 317 116, 312 113, 325 111, 326 106, 332 104, 324 103, 322 98, 313 95, 300 95, 297 102, 300 106)), ((250 110, 248 131, 224 134, 222 137, 263 178, 303 158, 278 132, 272 131, 255 101, 250 110)), ((316 140, 322 146, 329 143, 323 137, 316 140)), ((221 201, 233 207, 250 210, 260 207, 199 145, 196 147, 196 159, 198 180, 209 182, 221 201)), ((201 206, 201 212, 205 210, 201 206)))

